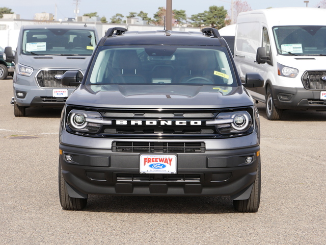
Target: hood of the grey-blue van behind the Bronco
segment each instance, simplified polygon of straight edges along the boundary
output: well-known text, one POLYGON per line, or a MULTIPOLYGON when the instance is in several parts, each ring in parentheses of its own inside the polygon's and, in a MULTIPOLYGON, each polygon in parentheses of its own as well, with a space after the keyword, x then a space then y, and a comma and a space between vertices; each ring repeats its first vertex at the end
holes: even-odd
POLYGON ((39 69, 80 69, 85 71, 91 56, 20 55, 19 63, 39 69))

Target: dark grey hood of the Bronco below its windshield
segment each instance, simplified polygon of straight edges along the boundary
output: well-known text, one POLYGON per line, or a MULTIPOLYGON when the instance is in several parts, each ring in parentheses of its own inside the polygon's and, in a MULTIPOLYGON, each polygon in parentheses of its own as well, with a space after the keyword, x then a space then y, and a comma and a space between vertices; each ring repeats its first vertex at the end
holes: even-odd
POLYGON ((228 108, 252 106, 239 87, 196 85, 80 85, 66 104, 101 108, 228 108))

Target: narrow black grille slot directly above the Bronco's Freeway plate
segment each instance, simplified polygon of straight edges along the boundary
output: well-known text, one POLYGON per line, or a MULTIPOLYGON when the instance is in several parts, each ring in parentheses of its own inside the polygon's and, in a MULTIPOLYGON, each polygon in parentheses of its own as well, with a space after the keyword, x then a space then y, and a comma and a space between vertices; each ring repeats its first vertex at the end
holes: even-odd
POLYGON ((113 152, 134 153, 203 153, 204 142, 131 142, 114 141, 113 152))

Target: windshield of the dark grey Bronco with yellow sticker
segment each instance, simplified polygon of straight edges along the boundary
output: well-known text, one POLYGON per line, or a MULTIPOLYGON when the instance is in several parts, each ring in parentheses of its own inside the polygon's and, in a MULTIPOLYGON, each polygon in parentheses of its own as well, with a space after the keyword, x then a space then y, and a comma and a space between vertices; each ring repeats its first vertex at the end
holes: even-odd
POLYGON ((86 84, 238 86, 226 47, 100 46, 86 84))

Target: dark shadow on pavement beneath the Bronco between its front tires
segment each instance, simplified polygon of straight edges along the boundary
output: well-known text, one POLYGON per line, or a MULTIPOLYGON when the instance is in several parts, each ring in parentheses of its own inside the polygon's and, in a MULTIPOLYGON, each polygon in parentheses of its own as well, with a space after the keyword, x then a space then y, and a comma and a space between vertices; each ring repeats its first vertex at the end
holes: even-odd
POLYGON ((234 213, 230 197, 126 197, 89 195, 84 211, 110 213, 234 213))

